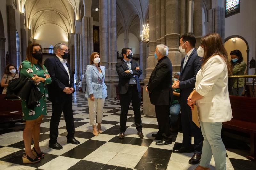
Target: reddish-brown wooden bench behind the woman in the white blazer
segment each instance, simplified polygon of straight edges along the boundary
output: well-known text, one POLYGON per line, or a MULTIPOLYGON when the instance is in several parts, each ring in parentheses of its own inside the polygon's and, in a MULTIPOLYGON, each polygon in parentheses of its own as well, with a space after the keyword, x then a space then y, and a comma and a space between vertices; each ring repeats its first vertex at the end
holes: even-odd
POLYGON ((229 96, 233 118, 223 122, 223 127, 250 134, 250 155, 247 159, 256 160, 256 97, 229 96))

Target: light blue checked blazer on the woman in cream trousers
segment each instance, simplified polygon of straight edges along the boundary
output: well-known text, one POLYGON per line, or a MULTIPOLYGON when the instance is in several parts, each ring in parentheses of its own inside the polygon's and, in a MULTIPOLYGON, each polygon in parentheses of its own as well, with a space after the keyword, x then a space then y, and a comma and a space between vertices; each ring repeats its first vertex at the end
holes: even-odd
POLYGON ((103 74, 103 81, 98 80, 99 71, 94 66, 94 64, 87 65, 86 67, 86 93, 85 97, 90 97, 90 94, 93 94, 94 98, 106 98, 107 95, 107 86, 105 85, 105 67, 100 66, 100 69, 103 74))

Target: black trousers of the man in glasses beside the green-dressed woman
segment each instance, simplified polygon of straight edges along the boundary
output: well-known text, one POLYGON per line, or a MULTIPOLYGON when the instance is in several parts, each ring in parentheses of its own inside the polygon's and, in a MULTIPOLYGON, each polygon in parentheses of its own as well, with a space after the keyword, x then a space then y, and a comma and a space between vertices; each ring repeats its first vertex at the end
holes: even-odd
POLYGON ((60 123, 61 113, 63 111, 66 129, 68 132, 67 139, 73 138, 75 134, 72 101, 65 99, 63 102, 54 103, 52 102, 52 117, 50 122, 50 141, 49 144, 57 142, 59 135, 58 126, 60 123))

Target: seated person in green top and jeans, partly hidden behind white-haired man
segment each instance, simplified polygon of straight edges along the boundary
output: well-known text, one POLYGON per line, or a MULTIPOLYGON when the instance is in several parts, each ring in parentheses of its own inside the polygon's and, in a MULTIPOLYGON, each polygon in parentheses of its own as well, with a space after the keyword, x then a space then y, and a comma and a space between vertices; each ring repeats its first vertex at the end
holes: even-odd
MULTIPOLYGON (((178 81, 179 77, 180 77, 180 72, 175 73, 173 81, 178 81)), ((179 100, 180 100, 180 88, 173 88, 173 100, 169 108, 171 132, 178 131, 177 125, 178 125, 178 118, 180 113, 179 100)))

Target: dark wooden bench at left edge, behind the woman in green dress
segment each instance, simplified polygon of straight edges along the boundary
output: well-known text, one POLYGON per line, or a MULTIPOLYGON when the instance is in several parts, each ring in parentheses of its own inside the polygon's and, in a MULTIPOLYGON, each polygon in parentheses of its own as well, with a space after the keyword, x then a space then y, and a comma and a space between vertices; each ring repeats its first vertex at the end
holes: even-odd
POLYGON ((24 122, 22 120, 22 108, 20 100, 5 100, 5 94, 0 94, 0 122, 24 122), (5 121, 5 119, 20 119, 16 121, 5 121))

